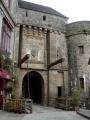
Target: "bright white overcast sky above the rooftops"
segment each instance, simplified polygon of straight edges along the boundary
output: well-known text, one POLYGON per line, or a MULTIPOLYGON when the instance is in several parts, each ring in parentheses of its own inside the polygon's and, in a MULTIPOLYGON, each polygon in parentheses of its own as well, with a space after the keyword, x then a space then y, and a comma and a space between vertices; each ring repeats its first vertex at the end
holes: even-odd
POLYGON ((90 21, 90 0, 25 0, 52 7, 69 18, 68 23, 90 21))

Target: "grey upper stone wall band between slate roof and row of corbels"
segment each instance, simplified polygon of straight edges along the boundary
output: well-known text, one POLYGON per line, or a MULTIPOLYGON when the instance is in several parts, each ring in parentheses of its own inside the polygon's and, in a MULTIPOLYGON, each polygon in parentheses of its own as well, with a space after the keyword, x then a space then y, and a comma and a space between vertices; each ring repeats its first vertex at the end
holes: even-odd
POLYGON ((37 11, 17 8, 17 23, 65 31, 67 19, 37 11), (43 20, 43 16, 46 16, 46 20, 43 20))

